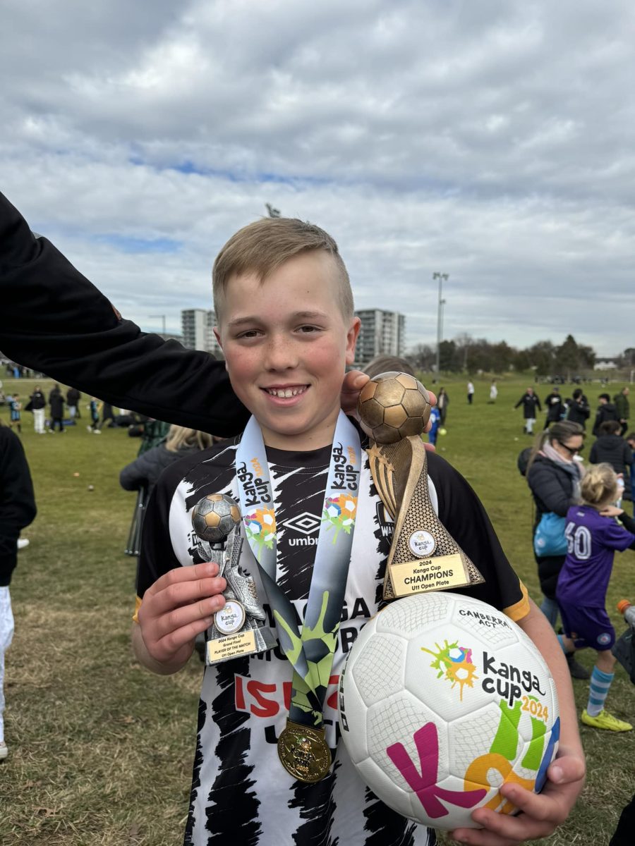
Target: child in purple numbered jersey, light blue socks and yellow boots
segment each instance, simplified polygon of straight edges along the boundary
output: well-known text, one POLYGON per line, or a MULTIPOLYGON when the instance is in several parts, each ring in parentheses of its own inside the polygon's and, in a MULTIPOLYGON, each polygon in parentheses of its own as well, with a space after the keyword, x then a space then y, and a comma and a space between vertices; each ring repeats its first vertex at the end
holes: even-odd
POLYGON ((583 476, 581 493, 582 504, 566 514, 567 554, 555 592, 565 631, 559 640, 565 652, 590 646, 598 653, 583 723, 627 732, 632 725, 605 710, 616 664, 611 652, 616 633, 605 599, 616 550, 635 549, 635 520, 611 504, 618 494, 617 475, 610 464, 592 466, 583 476))

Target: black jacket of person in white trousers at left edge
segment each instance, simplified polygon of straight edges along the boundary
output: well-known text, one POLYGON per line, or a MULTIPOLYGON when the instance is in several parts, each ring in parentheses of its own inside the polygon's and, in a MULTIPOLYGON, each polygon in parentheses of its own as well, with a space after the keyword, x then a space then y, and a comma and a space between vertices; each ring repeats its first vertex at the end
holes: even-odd
POLYGON ((0 587, 6 587, 18 560, 21 529, 36 516, 29 464, 19 437, 0 425, 0 587))

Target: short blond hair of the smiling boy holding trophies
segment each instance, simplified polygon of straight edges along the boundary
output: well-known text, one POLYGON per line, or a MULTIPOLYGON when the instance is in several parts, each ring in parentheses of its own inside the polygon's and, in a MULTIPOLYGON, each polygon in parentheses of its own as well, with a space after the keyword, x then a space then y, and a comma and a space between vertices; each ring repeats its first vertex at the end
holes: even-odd
POLYGON ((354 310, 351 280, 329 233, 296 217, 263 217, 239 229, 216 256, 212 285, 217 321, 229 277, 253 272, 264 282, 285 261, 313 250, 323 250, 333 258, 340 282, 340 310, 345 320, 350 320, 354 310))

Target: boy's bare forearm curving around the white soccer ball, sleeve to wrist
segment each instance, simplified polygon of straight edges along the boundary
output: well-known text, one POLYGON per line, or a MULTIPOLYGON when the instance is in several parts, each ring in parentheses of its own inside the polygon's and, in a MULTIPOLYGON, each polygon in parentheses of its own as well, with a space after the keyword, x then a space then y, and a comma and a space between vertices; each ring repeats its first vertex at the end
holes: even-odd
POLYGON ((538 646, 554 678, 560 708, 560 743, 583 758, 582 741, 577 727, 576 703, 564 653, 547 618, 532 600, 529 601, 529 605, 531 609, 529 614, 526 618, 519 620, 518 625, 538 646))

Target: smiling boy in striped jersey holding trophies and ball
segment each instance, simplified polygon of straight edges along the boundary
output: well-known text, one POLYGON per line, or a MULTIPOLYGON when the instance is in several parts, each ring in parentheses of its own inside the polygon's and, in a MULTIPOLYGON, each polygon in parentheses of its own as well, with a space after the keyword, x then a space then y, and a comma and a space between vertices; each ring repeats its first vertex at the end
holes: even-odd
MULTIPOLYGON (((253 416, 241 439, 174 464, 157 484, 144 525, 133 647, 154 672, 175 673, 224 606, 225 581, 216 564, 204 563, 191 529, 192 508, 212 493, 241 503, 240 565, 257 582, 279 646, 206 668, 185 843, 432 844, 433 832, 378 801, 337 742, 339 673, 359 629, 378 610, 392 530, 362 451, 367 440, 360 442, 340 415, 342 376, 360 321, 337 245, 301 221, 252 223, 219 253, 213 290, 218 343, 235 393, 253 416), (342 454, 346 492, 335 496, 342 454), (295 621, 286 615, 290 610, 308 623, 320 585, 329 591, 321 622, 332 635, 333 663, 323 687, 306 684, 304 693, 310 716, 323 715, 334 765, 316 783, 304 783, 285 772, 277 754, 289 711, 294 722, 304 716, 290 664, 297 656, 287 649, 295 621), (338 590, 335 622, 331 615, 327 625, 338 590)), ((558 682, 563 735, 561 757, 549 768, 552 783, 541 796, 508 784, 505 794, 525 813, 511 818, 480 809, 474 819, 483 831, 455 832, 466 843, 517 843, 553 831, 582 787, 566 664, 472 489, 434 453, 428 470, 439 517, 486 580, 469 592, 519 620, 558 682)), ((326 646, 329 636, 322 643, 313 637, 314 648, 316 640, 326 646)), ((316 663, 322 666, 328 651, 317 649, 316 663)))

